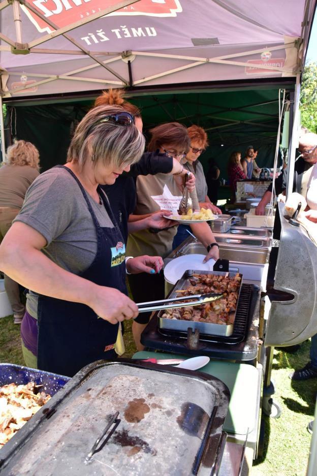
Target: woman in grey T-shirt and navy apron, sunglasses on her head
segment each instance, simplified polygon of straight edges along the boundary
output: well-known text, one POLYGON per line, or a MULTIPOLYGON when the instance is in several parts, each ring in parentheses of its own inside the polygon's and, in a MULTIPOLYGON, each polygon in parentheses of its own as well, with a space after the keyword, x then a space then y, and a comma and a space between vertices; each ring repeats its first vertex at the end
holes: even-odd
POLYGON ((161 257, 125 260, 105 193, 143 154, 134 116, 120 106, 91 109, 78 124, 66 165, 41 174, 0 246, 0 269, 29 289, 21 336, 26 363, 74 375, 116 357, 121 321, 138 315, 125 273, 158 273, 161 257), (38 336, 37 336, 38 333, 38 336))

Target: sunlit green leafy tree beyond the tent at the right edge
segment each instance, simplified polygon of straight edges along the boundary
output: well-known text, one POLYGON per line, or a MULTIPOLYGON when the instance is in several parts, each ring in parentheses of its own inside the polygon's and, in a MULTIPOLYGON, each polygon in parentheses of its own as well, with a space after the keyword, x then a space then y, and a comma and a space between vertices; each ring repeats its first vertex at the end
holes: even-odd
POLYGON ((300 96, 302 126, 317 133, 317 62, 309 61, 302 75, 300 96))

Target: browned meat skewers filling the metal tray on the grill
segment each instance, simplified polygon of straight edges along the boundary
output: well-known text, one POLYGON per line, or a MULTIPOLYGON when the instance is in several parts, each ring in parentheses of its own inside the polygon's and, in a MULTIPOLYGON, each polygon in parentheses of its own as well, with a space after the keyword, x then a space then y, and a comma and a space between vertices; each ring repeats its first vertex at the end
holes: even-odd
MULTIPOLYGON (((205 322, 211 324, 233 324, 238 303, 241 276, 233 277, 215 274, 193 274, 189 279, 191 285, 186 289, 176 290, 182 296, 207 293, 223 293, 224 297, 198 306, 165 309, 163 318, 183 321, 205 322)), ((184 301, 183 301, 184 302, 184 301)))

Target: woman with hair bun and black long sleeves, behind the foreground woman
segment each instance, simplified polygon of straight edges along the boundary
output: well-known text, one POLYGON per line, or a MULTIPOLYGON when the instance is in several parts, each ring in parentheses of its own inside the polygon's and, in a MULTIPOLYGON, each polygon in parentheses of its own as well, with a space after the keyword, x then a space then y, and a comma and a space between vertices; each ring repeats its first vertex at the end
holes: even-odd
MULTIPOLYGON (((103 91, 94 102, 96 106, 121 106, 125 111, 130 112, 135 117, 137 129, 142 133, 143 122, 140 109, 126 101, 125 91, 123 89, 109 89, 103 91)), ((184 175, 186 170, 176 160, 176 158, 167 156, 165 153, 145 152, 139 162, 132 164, 128 173, 120 175, 114 184, 101 185, 110 201, 112 211, 121 229, 124 243, 128 241, 129 232, 133 233, 145 228, 160 230, 173 226, 171 220, 164 218, 164 215, 171 214, 167 210, 160 210, 147 215, 134 215, 136 207, 136 186, 135 180, 138 175, 155 175, 157 173, 174 175, 174 179, 182 189, 184 175)), ((193 191, 195 188, 195 177, 186 183, 187 188, 193 191)))

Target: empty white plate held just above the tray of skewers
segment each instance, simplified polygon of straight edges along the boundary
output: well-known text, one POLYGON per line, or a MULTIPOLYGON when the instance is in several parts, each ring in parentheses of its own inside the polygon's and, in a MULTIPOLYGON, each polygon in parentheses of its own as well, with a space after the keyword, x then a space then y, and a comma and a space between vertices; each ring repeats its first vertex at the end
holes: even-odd
POLYGON ((205 255, 185 255, 170 261, 164 268, 164 277, 171 284, 176 284, 187 269, 213 271, 215 260, 203 263, 205 255))

